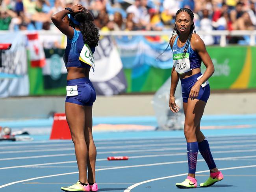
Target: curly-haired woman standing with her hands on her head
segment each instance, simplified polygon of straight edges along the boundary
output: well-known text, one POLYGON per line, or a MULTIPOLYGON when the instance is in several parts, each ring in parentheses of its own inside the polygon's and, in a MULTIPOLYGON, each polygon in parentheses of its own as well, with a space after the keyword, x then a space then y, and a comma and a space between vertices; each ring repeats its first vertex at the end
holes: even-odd
POLYGON ((87 52, 92 57, 98 45, 99 31, 94 25, 93 15, 82 5, 66 7, 65 10, 54 14, 52 21, 63 34, 67 35, 67 47, 63 57, 68 71, 65 113, 79 170, 78 182, 61 189, 63 191, 97 191, 96 147, 92 135, 92 105, 96 94, 89 80, 93 63, 84 63, 79 58, 83 47, 87 48, 87 52), (85 44, 88 46, 84 46, 85 44))

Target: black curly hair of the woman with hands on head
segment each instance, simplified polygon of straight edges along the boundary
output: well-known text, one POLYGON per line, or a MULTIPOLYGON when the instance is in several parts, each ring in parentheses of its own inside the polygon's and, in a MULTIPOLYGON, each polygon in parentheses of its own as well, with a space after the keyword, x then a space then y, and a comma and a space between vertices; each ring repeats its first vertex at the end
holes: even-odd
POLYGON ((82 35, 83 41, 89 46, 98 46, 98 41, 100 39, 99 29, 96 28, 94 24, 94 18, 90 11, 87 9, 82 12, 76 13, 75 15, 71 13, 75 20, 80 22, 80 25, 74 24, 71 20, 69 26, 72 28, 79 28, 82 35))

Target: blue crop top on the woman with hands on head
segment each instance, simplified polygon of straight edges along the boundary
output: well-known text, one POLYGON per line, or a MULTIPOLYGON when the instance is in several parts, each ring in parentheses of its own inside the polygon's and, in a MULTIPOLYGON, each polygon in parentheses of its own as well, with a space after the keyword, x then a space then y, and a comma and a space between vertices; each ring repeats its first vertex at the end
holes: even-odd
MULTIPOLYGON (((83 63, 79 60, 80 52, 82 51, 84 42, 83 42, 83 35, 81 31, 76 31, 74 29, 74 36, 72 39, 67 37, 67 47, 65 49, 65 54, 63 55, 63 60, 66 67, 74 66, 74 67, 88 67, 86 63, 83 63)), ((91 51, 95 52, 95 47, 91 47, 91 51)))

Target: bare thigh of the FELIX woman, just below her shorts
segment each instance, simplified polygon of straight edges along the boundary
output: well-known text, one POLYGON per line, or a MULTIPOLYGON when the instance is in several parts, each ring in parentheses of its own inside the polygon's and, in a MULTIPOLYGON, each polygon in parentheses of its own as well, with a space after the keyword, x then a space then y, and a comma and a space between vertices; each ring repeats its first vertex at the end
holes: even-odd
POLYGON ((188 100, 185 115, 185 124, 197 127, 204 113, 206 102, 202 100, 188 100))

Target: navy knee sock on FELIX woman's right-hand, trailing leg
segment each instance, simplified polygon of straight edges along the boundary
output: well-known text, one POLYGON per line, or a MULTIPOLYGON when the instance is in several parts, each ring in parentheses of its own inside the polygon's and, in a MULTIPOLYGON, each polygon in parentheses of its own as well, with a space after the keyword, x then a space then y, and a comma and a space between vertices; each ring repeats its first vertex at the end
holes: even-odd
POLYGON ((198 149, 204 158, 205 162, 207 163, 209 169, 216 168, 215 162, 211 155, 210 146, 207 140, 203 140, 202 142, 198 143, 198 149))

